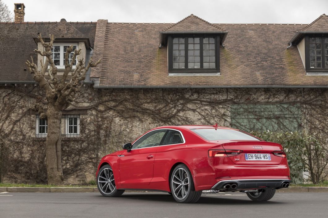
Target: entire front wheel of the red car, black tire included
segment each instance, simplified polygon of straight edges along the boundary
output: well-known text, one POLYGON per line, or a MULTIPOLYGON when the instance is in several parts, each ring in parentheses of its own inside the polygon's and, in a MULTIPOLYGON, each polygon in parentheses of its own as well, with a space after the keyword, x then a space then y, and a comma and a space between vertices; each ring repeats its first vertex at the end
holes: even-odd
POLYGON ((97 187, 98 191, 105 197, 118 197, 125 191, 116 189, 113 170, 108 164, 98 171, 97 187))

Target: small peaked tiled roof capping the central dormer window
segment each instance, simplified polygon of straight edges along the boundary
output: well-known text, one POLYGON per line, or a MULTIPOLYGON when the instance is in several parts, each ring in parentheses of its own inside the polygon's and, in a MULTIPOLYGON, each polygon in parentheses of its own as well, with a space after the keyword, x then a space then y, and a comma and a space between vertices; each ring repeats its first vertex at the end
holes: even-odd
POLYGON ((224 29, 191 14, 163 31, 224 31, 224 29))

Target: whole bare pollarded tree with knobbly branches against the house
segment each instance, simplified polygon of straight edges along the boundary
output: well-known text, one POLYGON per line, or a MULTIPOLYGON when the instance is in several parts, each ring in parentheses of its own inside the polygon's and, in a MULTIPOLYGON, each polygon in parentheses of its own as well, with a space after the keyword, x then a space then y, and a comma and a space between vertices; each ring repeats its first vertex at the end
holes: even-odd
POLYGON ((41 70, 38 70, 37 65, 33 62, 26 61, 33 79, 39 83, 40 87, 45 91, 48 101, 47 110, 42 105, 36 103, 33 107, 40 114, 40 118, 47 118, 48 134, 46 139, 46 165, 48 174, 48 184, 62 184, 64 181, 62 163, 61 163, 61 129, 60 120, 62 118, 62 110, 66 109, 74 99, 75 93, 81 90, 80 83, 85 79, 86 72, 90 67, 94 67, 101 62, 93 62, 90 59, 87 66, 82 59, 78 60, 75 69, 72 71, 71 80, 67 80, 67 76, 71 72, 76 57, 80 54, 81 49, 74 50, 71 63, 69 56, 73 51, 73 46, 67 48, 65 53, 65 71, 62 78, 57 76, 57 67, 51 57, 51 48, 55 39, 54 35, 50 35, 50 42, 44 42, 41 34, 38 35, 39 40, 44 48, 44 51, 34 49, 41 56, 45 56, 46 60, 40 61, 41 70), (48 66, 50 68, 48 70, 48 66), (48 71, 47 79, 45 77, 48 71))

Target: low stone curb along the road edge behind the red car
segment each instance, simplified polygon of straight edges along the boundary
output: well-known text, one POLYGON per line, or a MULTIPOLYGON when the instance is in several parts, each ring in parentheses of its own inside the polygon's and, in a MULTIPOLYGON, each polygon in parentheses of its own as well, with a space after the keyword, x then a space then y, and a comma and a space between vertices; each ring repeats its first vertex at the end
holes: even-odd
MULTIPOLYGON (((98 192, 93 187, 0 187, 0 192, 98 192)), ((126 191, 126 192, 144 192, 144 191, 126 191)), ((278 189, 277 193, 290 192, 328 192, 328 187, 289 187, 278 189)))

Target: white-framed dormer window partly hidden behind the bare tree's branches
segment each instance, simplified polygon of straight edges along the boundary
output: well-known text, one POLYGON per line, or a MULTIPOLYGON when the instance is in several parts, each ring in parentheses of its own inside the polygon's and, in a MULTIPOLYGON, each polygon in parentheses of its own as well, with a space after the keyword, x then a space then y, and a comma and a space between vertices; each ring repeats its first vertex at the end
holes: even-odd
MULTIPOLYGON (((73 45, 73 51, 70 54, 69 57, 69 63, 71 63, 74 50, 78 49, 77 43, 54 43, 52 46, 52 59, 53 63, 57 66, 57 68, 65 68, 65 53, 66 49, 73 45)), ((73 65, 75 67, 77 61, 77 57, 75 60, 75 64, 73 65)))

